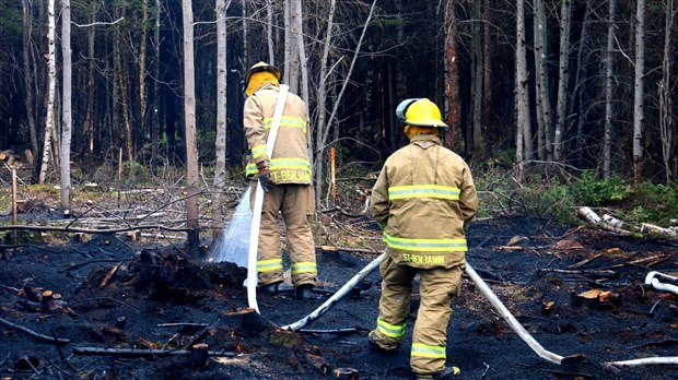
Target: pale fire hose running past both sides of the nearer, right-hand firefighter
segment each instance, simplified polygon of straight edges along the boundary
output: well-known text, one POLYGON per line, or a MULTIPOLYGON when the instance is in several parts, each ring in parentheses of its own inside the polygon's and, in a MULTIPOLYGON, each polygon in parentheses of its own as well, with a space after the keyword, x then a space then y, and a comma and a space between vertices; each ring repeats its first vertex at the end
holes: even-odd
MULTIPOLYGON (((297 331, 303 329, 304 326, 313 323, 318 318, 320 318, 325 312, 327 312, 332 306, 335 306, 343 296, 346 296, 355 285, 358 285, 367 274, 374 271, 384 258, 386 253, 382 253, 378 258, 374 259, 371 263, 369 263, 365 268, 363 268, 360 272, 358 272, 349 282, 347 282, 337 293, 335 293, 330 298, 328 298, 323 305, 320 305, 317 309, 311 312, 308 316, 302 318, 301 320, 284 325, 282 329, 297 331)), ((572 365, 583 360, 584 356, 581 354, 570 355, 570 356, 561 356, 554 354, 550 351, 547 351, 537 342, 528 332, 523 328, 521 322, 518 322, 515 317, 506 309, 504 304, 496 297, 496 295, 492 292, 492 289, 486 284, 486 282, 476 273, 474 268, 467 262, 466 263, 466 274, 471 278, 474 284, 478 286, 480 292, 488 298, 490 304, 501 313, 501 316, 506 320, 508 325, 521 336, 521 339, 527 343, 527 345, 542 359, 548 361, 558 364, 558 365, 572 365)))

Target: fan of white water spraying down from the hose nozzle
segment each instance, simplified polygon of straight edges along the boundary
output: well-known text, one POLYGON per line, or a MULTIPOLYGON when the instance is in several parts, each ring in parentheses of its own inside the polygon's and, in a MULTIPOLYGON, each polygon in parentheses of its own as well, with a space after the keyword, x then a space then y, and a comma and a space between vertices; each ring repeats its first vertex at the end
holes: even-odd
POLYGON ((249 253, 249 233, 252 229, 252 210, 249 210, 249 189, 235 207, 229 223, 219 239, 212 245, 207 261, 230 261, 247 268, 249 253))

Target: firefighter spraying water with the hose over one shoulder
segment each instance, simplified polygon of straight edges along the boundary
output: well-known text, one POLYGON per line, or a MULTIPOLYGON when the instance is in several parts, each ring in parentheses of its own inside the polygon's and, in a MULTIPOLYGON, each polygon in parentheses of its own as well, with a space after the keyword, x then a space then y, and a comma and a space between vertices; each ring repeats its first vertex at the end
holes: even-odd
MULTIPOLYGON (((245 75, 244 128, 250 150, 247 178, 264 187, 257 271, 259 286, 276 294, 283 281, 278 214, 282 214, 292 263, 292 283, 300 298, 312 298, 317 269, 315 244, 308 216, 313 210, 309 130, 306 104, 288 93, 272 157, 266 142, 280 93, 281 72, 266 62, 253 66, 245 75)), ((252 203, 254 204, 254 187, 252 203)))

